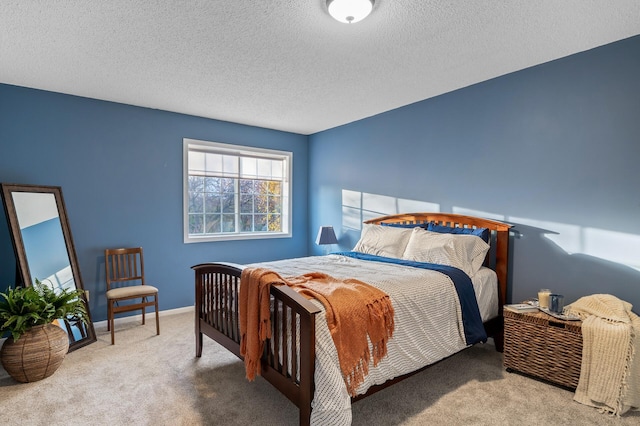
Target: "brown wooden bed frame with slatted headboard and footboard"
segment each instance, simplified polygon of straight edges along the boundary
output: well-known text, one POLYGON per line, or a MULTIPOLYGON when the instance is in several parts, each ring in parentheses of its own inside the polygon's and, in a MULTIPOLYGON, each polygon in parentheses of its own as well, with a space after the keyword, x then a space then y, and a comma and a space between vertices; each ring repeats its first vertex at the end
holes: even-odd
MULTIPOLYGON (((364 223, 420 225, 429 222, 451 227, 487 228, 491 231, 489 240, 491 248, 484 265, 493 269, 498 276, 498 317, 485 322, 484 326, 487 335, 493 337, 496 349, 502 352, 504 328, 502 306, 507 302, 511 225, 451 213, 407 213, 383 216, 364 223)), ((195 270, 196 357, 202 356, 202 336, 207 335, 242 359, 238 298, 243 268, 241 265, 230 263, 203 263, 192 267, 195 270)), ((262 377, 299 408, 300 424, 308 425, 314 395, 315 316, 320 310, 287 286, 272 286, 271 297, 273 330, 271 339, 265 344, 262 356, 262 377), (293 330, 294 336, 287 338, 286 330, 293 330), (279 354, 297 354, 297 356, 280 356, 279 354)), ((382 385, 372 386, 366 394, 358 395, 352 400, 362 399, 424 368, 391 379, 382 385)))

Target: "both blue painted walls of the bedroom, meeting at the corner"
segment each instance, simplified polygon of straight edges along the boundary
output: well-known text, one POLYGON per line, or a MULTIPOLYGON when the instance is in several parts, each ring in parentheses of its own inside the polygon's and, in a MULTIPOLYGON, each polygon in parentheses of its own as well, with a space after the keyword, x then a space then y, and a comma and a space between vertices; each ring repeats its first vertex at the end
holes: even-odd
POLYGON ((513 223, 514 301, 607 292, 638 312, 638 75, 634 37, 309 137, 0 84, 0 181, 63 188, 95 320, 105 247, 144 246, 170 309, 193 304, 193 264, 320 254, 320 225, 350 249, 362 218, 394 209, 513 223), (183 244, 184 137, 293 151, 293 238, 183 244))

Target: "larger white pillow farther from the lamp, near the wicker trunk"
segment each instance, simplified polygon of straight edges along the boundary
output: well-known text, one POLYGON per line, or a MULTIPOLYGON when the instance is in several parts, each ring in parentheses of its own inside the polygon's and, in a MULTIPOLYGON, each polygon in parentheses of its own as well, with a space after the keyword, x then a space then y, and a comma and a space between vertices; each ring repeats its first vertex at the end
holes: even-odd
POLYGON ((472 277, 482 266, 488 250, 489 244, 475 235, 441 234, 413 228, 402 258, 453 266, 472 277))

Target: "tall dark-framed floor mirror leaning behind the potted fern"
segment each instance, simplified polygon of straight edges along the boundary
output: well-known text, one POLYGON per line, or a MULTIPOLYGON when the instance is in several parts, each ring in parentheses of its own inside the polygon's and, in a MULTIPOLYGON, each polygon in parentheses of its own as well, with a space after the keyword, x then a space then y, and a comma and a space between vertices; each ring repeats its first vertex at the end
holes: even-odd
MULTIPOLYGON (((80 289, 82 279, 59 186, 2 184, 2 199, 16 254, 16 286, 39 281, 54 290, 80 289)), ((85 299, 89 318, 89 306, 85 299)), ((93 323, 60 318, 69 351, 96 341, 93 323)))

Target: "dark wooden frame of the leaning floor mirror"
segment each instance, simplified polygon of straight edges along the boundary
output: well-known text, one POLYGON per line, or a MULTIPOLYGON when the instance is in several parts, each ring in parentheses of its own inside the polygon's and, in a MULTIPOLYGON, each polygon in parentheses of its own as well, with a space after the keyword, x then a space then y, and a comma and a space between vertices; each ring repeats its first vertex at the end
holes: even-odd
MULTIPOLYGON (((22 229, 20 228, 18 221, 18 212, 16 211, 16 203, 13 198, 13 194, 52 194, 55 199, 58 218, 60 219, 60 225, 62 227, 62 235, 64 237, 64 243, 69 257, 69 266, 71 268, 73 281, 76 289, 84 290, 82 278, 80 276, 80 268, 78 267, 78 260, 76 258, 76 250, 73 244, 73 238, 71 237, 71 229, 69 228, 69 221, 67 219, 67 211, 64 199, 62 198, 62 189, 59 186, 18 185, 5 183, 1 184, 1 186, 4 209, 7 216, 7 222, 9 223, 13 249, 16 255, 16 282, 14 285, 30 286, 35 282, 35 278, 42 279, 44 281, 44 278, 46 277, 31 276, 28 255, 24 246, 22 229)), ((60 327, 65 330, 69 336, 69 352, 96 341, 96 333, 93 328, 93 322, 91 321, 91 313, 89 311, 89 304, 87 303, 86 296, 84 297, 84 302, 89 316, 89 323, 84 326, 80 324, 82 328, 77 327, 77 324, 73 325, 73 327, 76 327, 77 329, 79 334, 78 337, 74 336, 72 326, 68 321, 65 320, 65 327, 60 325, 60 327)))

